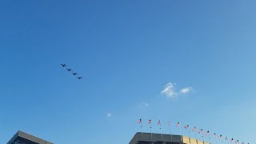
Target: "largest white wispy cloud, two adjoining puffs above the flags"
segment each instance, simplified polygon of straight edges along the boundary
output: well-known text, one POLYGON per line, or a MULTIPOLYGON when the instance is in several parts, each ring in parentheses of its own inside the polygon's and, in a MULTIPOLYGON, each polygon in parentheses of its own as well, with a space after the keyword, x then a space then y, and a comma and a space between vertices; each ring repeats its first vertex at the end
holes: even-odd
POLYGON ((192 90, 192 87, 185 87, 181 90, 178 90, 176 92, 175 90, 175 83, 168 82, 166 86, 164 86, 164 89, 161 91, 161 94, 166 95, 167 98, 176 98, 180 94, 188 94, 192 90))

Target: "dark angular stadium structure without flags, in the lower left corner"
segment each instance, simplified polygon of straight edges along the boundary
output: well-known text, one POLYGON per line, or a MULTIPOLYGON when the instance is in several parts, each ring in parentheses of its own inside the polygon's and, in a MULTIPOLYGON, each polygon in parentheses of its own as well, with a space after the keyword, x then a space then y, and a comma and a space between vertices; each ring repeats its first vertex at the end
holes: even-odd
POLYGON ((7 144, 53 144, 33 135, 18 131, 7 144))

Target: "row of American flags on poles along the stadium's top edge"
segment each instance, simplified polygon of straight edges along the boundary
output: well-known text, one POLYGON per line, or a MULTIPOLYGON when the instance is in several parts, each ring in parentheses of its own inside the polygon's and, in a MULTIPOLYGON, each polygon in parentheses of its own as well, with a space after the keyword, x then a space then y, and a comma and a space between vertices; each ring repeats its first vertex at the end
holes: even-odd
MULTIPOLYGON (((141 133, 142 133, 142 118, 140 118, 140 119, 138 120, 138 123, 140 124, 141 133)), ((151 119, 149 119, 149 120, 147 121, 147 124, 150 126, 150 133, 151 133, 151 138, 152 138, 152 121, 151 121, 151 119)), ((157 122, 157 125, 159 126, 160 134, 161 134, 161 138, 162 138, 162 126, 161 126, 160 120, 157 122)), ((171 134, 171 124, 170 124, 170 121, 167 122, 167 126, 169 127, 170 136, 171 136, 172 134, 171 134)), ((179 128, 180 134, 182 135, 182 128, 181 128, 180 122, 178 122, 178 123, 176 124, 176 127, 179 128)), ((184 126, 184 128, 187 130, 187 132, 188 132, 188 134, 189 134, 189 137, 190 137, 190 126, 189 126, 189 125, 186 125, 186 126, 184 126)), ((202 141, 205 141, 205 139, 204 139, 205 136, 206 136, 206 137, 208 136, 209 141, 210 141, 210 131, 209 131, 209 130, 207 130, 206 133, 204 134, 202 129, 201 129, 201 130, 197 130, 197 128, 194 126, 194 128, 193 128, 191 131, 194 132, 196 138, 198 138, 198 134, 200 134, 199 136, 201 136, 201 134, 202 134, 202 141)), ((224 137, 222 136, 222 134, 218 135, 218 138, 217 138, 217 134, 214 133, 214 134, 213 134, 213 138, 215 138, 216 143, 218 142, 218 139, 221 140, 222 143, 223 143, 223 138, 224 138, 224 137)), ((234 140, 234 138, 231 138, 231 139, 229 140, 229 138, 228 138, 227 136, 226 136, 226 138, 225 138, 225 141, 226 141, 227 143, 236 143, 236 144, 239 144, 239 140, 234 140)), ((245 144, 245 142, 242 142, 241 144, 245 144)), ((248 143, 248 144, 249 144, 249 143, 248 143)))

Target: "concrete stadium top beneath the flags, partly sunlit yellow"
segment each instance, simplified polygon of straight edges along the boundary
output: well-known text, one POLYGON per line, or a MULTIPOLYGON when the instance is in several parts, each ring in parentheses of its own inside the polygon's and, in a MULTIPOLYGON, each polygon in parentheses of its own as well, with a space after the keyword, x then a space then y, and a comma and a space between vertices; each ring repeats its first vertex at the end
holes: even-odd
POLYGON ((183 135, 136 133, 129 144, 210 144, 183 135))

